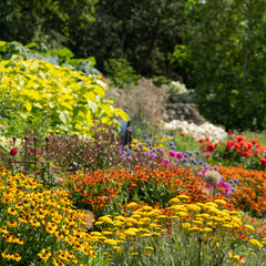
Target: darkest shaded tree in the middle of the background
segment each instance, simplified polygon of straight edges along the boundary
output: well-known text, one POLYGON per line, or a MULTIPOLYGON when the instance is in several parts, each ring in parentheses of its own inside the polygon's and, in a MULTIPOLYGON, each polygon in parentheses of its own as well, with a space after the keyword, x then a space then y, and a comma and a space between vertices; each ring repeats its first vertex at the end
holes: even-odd
POLYGON ((144 75, 167 74, 174 45, 181 42, 186 0, 101 0, 96 22, 76 35, 78 57, 126 59, 144 75))

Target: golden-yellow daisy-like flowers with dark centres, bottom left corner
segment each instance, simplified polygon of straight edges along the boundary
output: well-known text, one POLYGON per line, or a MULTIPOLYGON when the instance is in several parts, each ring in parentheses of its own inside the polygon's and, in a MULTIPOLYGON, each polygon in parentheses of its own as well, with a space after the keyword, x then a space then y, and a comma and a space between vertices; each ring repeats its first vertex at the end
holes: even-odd
MULTIPOLYGON (((38 243, 38 256, 43 262, 51 258, 53 265, 63 265, 61 263, 65 262, 79 265, 76 256, 80 253, 95 257, 92 237, 83 226, 86 214, 72 209, 72 202, 68 196, 61 188, 45 190, 32 176, 12 175, 0 168, 0 197, 3 204, 0 233, 6 243, 3 250, 10 250, 10 243, 23 245, 23 250, 30 249, 32 244, 28 246, 27 241, 28 235, 32 234, 40 235, 42 239, 54 239, 55 247, 52 250, 49 249, 50 246, 45 248, 42 243, 38 243), (64 250, 66 246, 68 250, 64 250)), ((17 247, 18 245, 13 245, 12 250, 17 247)), ((19 259, 18 255, 7 254, 3 253, 2 257, 19 259)), ((21 256, 23 257, 23 254, 21 256)))

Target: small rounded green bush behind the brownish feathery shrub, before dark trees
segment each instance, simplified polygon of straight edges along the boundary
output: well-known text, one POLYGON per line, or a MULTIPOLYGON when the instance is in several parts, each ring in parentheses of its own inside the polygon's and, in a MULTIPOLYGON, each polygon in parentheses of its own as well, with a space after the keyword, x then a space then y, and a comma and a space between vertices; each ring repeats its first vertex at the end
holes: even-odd
POLYGON ((104 62, 108 78, 111 80, 111 84, 121 89, 129 86, 130 84, 137 84, 141 75, 136 74, 126 59, 109 59, 104 62))

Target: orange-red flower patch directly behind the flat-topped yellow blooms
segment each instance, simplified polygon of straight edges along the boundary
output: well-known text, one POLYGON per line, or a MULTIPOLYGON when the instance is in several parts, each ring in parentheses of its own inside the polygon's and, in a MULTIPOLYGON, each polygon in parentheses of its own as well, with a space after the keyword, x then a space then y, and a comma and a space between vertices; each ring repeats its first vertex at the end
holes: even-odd
POLYGON ((203 191, 201 176, 178 167, 151 170, 135 166, 130 171, 116 167, 69 175, 63 183, 75 198, 82 198, 95 214, 114 202, 116 206, 125 205, 133 198, 161 207, 181 193, 188 195, 191 202, 205 202, 208 198, 203 191))

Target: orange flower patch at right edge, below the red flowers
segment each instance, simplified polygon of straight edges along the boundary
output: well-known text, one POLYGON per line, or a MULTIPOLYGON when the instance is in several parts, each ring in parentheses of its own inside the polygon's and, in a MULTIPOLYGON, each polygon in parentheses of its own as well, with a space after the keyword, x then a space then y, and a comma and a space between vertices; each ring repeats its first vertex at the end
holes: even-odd
POLYGON ((219 167, 226 181, 237 178, 234 201, 237 207, 260 217, 266 214, 266 172, 245 170, 242 166, 219 167))

